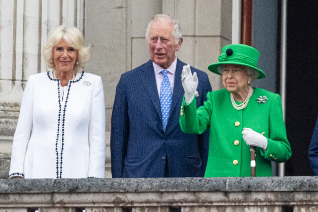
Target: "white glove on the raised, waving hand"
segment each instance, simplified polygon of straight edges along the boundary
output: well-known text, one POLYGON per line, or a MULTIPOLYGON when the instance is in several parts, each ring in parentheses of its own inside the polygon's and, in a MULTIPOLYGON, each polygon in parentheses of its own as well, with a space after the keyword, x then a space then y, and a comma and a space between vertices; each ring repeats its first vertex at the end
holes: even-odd
POLYGON ((199 81, 196 72, 192 76, 189 64, 183 66, 181 81, 184 89, 184 102, 190 104, 194 98, 199 81))

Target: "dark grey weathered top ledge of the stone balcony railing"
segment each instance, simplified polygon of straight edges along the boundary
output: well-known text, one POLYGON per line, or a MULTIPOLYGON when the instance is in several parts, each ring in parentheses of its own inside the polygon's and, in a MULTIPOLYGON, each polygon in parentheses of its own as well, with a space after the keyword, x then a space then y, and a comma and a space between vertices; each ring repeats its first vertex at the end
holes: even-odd
POLYGON ((318 191, 318 177, 0 179, 0 194, 318 191))

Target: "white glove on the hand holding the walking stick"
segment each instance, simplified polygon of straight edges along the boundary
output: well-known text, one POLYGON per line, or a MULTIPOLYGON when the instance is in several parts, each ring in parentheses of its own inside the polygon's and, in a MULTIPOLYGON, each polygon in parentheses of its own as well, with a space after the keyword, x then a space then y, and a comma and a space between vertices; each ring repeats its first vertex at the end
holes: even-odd
POLYGON ((251 128, 243 127, 243 139, 247 145, 258 146, 263 150, 267 148, 267 138, 251 128))

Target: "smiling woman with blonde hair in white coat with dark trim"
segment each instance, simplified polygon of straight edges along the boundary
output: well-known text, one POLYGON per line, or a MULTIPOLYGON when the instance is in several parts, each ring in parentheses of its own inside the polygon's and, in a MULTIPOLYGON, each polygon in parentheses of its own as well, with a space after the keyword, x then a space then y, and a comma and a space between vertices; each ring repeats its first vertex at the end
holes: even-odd
POLYGON ((83 71, 83 35, 59 26, 42 53, 52 70, 26 84, 9 178, 103 178, 104 92, 101 77, 83 71))

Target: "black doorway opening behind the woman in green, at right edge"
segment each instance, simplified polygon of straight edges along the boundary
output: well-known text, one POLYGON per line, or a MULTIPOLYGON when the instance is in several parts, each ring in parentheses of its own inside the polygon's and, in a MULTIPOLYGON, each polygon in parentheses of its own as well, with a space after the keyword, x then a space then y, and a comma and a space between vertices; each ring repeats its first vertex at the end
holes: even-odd
POLYGON ((287 176, 313 175, 308 146, 318 115, 317 18, 315 0, 287 1, 287 137, 292 157, 287 176))

